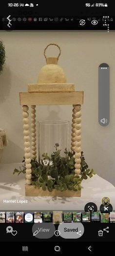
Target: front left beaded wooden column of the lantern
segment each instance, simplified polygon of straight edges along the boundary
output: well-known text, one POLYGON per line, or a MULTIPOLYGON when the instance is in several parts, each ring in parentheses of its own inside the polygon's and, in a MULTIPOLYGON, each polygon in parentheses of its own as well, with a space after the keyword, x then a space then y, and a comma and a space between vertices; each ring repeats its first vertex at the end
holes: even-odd
POLYGON ((24 134, 24 157, 26 167, 26 183, 32 184, 32 170, 31 170, 31 153, 30 153, 30 131, 29 131, 29 119, 28 119, 28 106, 22 106, 23 109, 23 134, 24 134))

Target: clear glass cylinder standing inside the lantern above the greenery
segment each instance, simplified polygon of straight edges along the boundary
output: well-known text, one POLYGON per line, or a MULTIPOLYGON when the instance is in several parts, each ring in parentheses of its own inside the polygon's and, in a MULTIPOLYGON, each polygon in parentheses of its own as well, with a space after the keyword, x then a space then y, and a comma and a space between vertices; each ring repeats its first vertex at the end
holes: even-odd
POLYGON ((67 120, 43 120, 38 122, 38 158, 42 154, 51 156, 56 151, 55 145, 61 149, 60 155, 64 156, 64 149, 69 149, 69 121, 67 120))

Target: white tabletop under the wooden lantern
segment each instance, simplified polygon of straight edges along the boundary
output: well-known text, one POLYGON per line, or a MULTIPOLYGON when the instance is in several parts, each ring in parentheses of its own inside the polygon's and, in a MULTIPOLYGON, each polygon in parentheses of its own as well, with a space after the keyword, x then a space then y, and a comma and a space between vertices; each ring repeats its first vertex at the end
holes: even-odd
POLYGON ((24 174, 13 175, 14 169, 19 169, 19 166, 21 166, 19 163, 0 164, 0 211, 84 210, 88 202, 96 203, 99 210, 104 196, 110 198, 115 210, 115 187, 98 175, 82 181, 81 197, 25 196, 24 174), (6 203, 4 200, 14 200, 14 203, 6 203))

